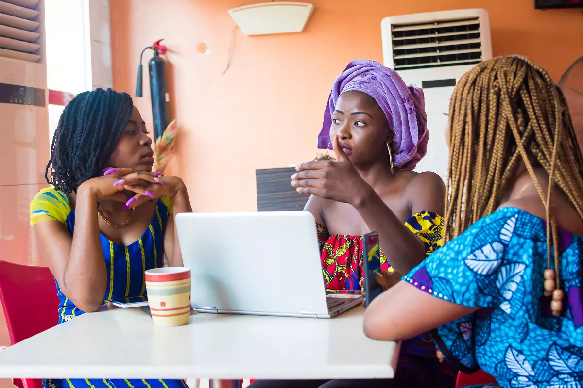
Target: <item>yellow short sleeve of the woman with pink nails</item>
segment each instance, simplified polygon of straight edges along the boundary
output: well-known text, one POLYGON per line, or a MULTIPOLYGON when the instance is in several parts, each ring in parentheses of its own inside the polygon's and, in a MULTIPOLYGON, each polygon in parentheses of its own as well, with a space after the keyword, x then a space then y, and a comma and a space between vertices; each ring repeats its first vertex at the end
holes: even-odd
POLYGON ((52 187, 43 188, 30 202, 30 225, 56 220, 66 223, 71 206, 65 193, 52 187))

